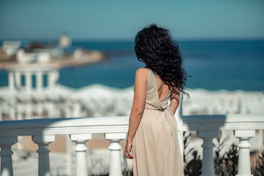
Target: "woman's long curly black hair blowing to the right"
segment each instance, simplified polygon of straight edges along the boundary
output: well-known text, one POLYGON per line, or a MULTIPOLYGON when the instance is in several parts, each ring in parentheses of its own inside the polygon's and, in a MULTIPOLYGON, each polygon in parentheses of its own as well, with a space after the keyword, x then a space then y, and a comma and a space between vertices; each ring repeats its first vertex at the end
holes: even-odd
POLYGON ((135 52, 139 61, 156 73, 164 82, 177 87, 185 95, 187 75, 183 68, 179 44, 175 42, 168 29, 149 25, 135 37, 135 52))

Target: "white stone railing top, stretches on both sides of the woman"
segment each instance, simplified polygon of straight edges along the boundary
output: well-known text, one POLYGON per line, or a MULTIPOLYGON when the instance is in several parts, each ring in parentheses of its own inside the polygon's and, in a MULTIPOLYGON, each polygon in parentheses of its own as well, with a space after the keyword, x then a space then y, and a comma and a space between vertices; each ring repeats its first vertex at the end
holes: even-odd
MULTIPOLYGON (((183 131, 264 129, 264 114, 183 116, 183 131)), ((0 137, 18 135, 59 135, 126 133, 129 117, 54 118, 1 121, 0 137)))

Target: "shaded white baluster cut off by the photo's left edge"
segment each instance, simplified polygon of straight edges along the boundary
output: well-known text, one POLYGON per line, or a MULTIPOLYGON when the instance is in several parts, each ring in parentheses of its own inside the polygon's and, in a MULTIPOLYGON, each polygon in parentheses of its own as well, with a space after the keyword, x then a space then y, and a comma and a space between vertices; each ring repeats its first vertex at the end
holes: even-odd
POLYGON ((13 164, 11 146, 18 141, 17 137, 3 137, 0 138, 1 147, 1 173, 2 176, 13 176, 13 164))

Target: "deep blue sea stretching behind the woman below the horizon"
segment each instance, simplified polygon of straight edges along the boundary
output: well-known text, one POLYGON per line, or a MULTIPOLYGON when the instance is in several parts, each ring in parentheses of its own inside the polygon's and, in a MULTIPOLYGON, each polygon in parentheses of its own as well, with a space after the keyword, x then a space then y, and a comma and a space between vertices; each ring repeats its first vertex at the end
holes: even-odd
MULTIPOLYGON (((189 89, 264 91, 264 40, 179 41, 189 89)), ((97 49, 109 57, 99 63, 60 70, 59 83, 83 87, 94 83, 125 88, 134 83, 137 60, 133 41, 73 41, 73 46, 97 49)), ((8 74, 0 70, 0 86, 8 74)))

